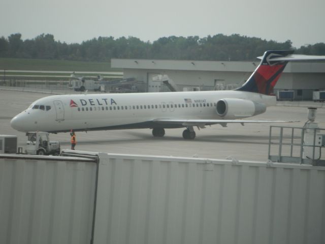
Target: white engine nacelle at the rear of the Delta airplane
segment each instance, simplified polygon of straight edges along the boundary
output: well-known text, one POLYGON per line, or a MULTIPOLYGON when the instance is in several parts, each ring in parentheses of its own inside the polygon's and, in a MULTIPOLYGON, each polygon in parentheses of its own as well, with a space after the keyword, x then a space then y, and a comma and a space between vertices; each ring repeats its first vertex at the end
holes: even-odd
POLYGON ((226 119, 250 117, 265 111, 265 104, 239 98, 221 99, 216 105, 217 114, 226 119))

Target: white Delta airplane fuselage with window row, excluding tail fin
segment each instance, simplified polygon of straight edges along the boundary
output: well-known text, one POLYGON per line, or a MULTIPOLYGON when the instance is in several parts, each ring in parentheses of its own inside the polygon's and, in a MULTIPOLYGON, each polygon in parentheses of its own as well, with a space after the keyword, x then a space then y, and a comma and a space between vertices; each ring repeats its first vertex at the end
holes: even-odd
MULTIPOLYGON (((16 115, 11 125, 18 131, 52 133, 137 128, 180 128, 175 119, 237 119, 254 116, 275 105, 272 96, 239 92, 175 92, 134 94, 57 95, 39 99, 16 115), (220 101, 229 100, 228 108, 220 101), (219 103, 218 103, 219 102, 219 103), (247 104, 249 103, 249 109, 247 104), (258 105, 262 105, 259 106, 258 105), (266 106, 263 106, 266 105, 266 106), (234 111, 230 111, 230 109, 234 111), (231 112, 231 113, 230 113, 231 112), (171 123, 167 123, 170 119, 171 123), (164 123, 160 123, 164 120, 164 123)), ((222 121, 219 121, 220 123, 222 121)), ((226 122, 226 121, 225 121, 226 122)), ((195 124, 195 123, 194 123, 195 124)), ((206 123, 208 124, 208 123, 206 123)), ((219 123, 211 123, 219 124, 219 123)), ((196 126, 196 125, 194 125, 196 126)))

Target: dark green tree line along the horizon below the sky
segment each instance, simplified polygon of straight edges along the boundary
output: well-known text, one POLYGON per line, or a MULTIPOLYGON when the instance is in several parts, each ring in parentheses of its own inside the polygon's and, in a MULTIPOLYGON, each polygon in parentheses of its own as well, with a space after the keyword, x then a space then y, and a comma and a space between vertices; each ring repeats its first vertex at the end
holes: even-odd
POLYGON ((55 41, 51 34, 22 40, 21 34, 0 38, 0 57, 43 58, 107 62, 111 58, 254 60, 266 50, 295 49, 295 53, 325 55, 325 44, 317 43, 294 48, 292 42, 267 41, 233 34, 217 34, 199 38, 162 37, 144 42, 136 37, 99 37, 82 43, 55 41))

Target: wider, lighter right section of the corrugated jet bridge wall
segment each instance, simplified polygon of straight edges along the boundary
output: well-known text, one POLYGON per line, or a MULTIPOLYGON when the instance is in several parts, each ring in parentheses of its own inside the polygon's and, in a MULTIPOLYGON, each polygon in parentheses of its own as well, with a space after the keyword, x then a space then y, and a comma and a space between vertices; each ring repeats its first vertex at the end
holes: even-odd
POLYGON ((325 243, 325 168, 100 154, 94 243, 325 243))

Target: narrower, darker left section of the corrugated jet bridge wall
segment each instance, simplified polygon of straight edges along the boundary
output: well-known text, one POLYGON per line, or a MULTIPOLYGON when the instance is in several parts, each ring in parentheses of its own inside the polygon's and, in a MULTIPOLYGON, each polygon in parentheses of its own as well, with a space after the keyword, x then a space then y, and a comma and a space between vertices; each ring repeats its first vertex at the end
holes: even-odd
POLYGON ((95 179, 87 159, 0 158, 0 243, 89 244, 95 179))

